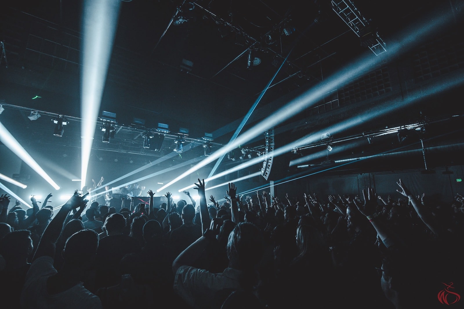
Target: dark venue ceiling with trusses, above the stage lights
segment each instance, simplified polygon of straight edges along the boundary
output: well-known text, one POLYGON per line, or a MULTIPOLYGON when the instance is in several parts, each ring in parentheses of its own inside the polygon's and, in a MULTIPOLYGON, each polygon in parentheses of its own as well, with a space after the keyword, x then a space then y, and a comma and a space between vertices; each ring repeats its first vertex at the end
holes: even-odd
MULTIPOLYGON (((364 115, 380 104, 404 102, 411 96, 418 99, 400 109, 401 113, 389 109, 388 117, 366 118, 339 132, 335 139, 418 121, 450 126, 443 119, 463 112, 462 104, 454 100, 462 83, 452 83, 450 90, 437 90, 438 96, 433 96, 433 91, 430 96, 421 94, 463 73, 459 31, 463 1, 353 2, 386 43, 387 52, 409 26, 427 25, 433 15, 443 12, 448 12, 452 19, 431 36, 400 42, 404 51, 399 49, 398 55, 375 63, 361 76, 354 76, 319 98, 311 108, 277 124, 276 132, 285 136, 283 141, 290 142, 287 139, 301 138, 364 115)), ((143 164, 147 156, 172 153, 174 145, 168 142, 161 152, 142 149, 140 133, 144 128, 133 126, 133 117, 144 119, 146 128, 167 123, 172 134, 187 128, 194 140, 205 132, 214 133, 215 147, 219 147, 229 141, 258 99, 244 129, 292 98, 323 85, 355 59, 377 57, 361 44, 328 0, 132 0, 120 4, 101 110, 116 113, 122 127, 110 144, 94 142, 97 158, 102 154, 127 153, 131 157, 141 155, 143 164), (179 21, 180 16, 184 22, 179 21), (247 68, 250 50, 251 59, 260 63, 247 68)), ((42 146, 59 145, 63 149, 60 155, 66 149, 79 147, 82 9, 83 1, 20 0, 8 3, 0 13, 4 30, 1 40, 8 61, 7 68, 5 62, 0 64, 0 99, 7 112, 11 110, 8 119, 1 115, 2 122, 19 140, 42 146), (43 118, 29 121, 31 110, 43 111, 43 118), (70 124, 62 138, 50 134, 53 114, 69 116, 70 124)), ((437 129, 436 135, 442 131, 437 129)), ((101 139, 99 130, 96 134, 101 139)), ((447 143, 460 143, 456 138, 459 136, 447 143)), ((262 150, 264 136, 242 146, 262 150)), ((203 154, 201 147, 195 148, 190 155, 186 153, 177 159, 187 161, 203 154)), ((300 149, 297 155, 308 155, 312 149, 300 149)), ((353 149, 340 156, 365 151, 353 149)))

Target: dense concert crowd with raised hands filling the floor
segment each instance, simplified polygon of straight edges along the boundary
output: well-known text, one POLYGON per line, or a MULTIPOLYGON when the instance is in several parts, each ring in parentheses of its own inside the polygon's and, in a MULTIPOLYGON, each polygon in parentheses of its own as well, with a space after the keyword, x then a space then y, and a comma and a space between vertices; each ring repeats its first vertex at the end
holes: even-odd
POLYGON ((459 194, 399 180, 388 196, 279 199, 230 183, 220 205, 195 185, 200 205, 169 192, 154 205, 149 190, 149 205, 86 209, 76 191, 25 210, 1 195, 2 308, 443 308, 464 295, 459 194))

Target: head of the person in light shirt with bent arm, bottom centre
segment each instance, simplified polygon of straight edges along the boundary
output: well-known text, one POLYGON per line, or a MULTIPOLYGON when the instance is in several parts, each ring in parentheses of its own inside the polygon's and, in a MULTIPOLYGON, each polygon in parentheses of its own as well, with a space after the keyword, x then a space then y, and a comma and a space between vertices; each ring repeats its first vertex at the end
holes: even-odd
POLYGON ((264 238, 261 230, 248 222, 235 225, 227 241, 229 266, 239 270, 252 270, 263 254, 264 238))

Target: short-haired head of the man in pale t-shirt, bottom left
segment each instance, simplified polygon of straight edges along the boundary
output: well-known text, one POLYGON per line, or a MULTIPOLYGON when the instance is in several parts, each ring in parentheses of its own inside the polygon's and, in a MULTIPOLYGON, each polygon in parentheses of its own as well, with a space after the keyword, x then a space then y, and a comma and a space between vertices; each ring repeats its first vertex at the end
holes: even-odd
POLYGON ((90 269, 97 257, 97 249, 97 232, 86 229, 72 234, 64 245, 63 268, 90 269))

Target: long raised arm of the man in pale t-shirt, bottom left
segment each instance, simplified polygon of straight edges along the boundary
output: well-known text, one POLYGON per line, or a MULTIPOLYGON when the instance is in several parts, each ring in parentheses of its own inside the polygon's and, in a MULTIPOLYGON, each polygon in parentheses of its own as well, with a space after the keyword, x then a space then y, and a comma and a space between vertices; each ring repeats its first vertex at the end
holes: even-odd
POLYGON ((80 196, 79 193, 75 191, 71 198, 61 206, 56 216, 48 224, 45 232, 42 234, 32 261, 45 255, 52 258, 55 257, 55 244, 63 230, 64 219, 66 219, 66 216, 72 209, 80 207, 83 204, 85 205, 88 202, 88 200, 85 200, 88 194, 89 193, 86 193, 84 196, 80 196))

